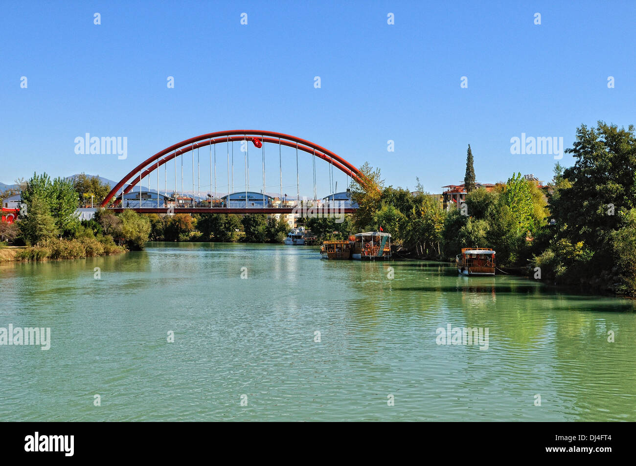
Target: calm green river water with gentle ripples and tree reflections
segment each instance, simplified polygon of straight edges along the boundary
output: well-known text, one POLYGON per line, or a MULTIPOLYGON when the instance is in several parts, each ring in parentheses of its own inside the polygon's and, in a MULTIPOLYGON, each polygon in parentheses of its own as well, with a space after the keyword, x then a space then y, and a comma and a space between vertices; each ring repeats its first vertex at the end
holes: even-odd
POLYGON ((626 299, 232 243, 0 264, 0 287, 0 327, 51 335, 0 345, 0 421, 636 421, 626 299))

